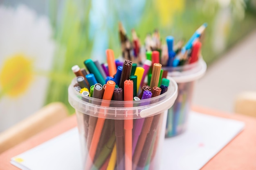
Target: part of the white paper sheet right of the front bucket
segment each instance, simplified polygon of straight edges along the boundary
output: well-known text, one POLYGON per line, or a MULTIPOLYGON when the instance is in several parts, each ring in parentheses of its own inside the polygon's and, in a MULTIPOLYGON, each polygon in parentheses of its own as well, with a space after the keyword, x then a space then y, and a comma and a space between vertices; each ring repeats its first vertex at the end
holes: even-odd
POLYGON ((226 146, 245 124, 192 112, 184 133, 164 140, 163 170, 198 170, 226 146))

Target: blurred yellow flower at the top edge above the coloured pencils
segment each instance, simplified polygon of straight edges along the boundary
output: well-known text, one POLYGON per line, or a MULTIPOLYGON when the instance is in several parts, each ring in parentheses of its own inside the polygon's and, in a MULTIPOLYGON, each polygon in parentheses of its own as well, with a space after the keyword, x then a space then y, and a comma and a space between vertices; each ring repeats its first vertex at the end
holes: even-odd
POLYGON ((172 24, 175 13, 184 10, 184 0, 155 0, 154 1, 161 26, 172 24))

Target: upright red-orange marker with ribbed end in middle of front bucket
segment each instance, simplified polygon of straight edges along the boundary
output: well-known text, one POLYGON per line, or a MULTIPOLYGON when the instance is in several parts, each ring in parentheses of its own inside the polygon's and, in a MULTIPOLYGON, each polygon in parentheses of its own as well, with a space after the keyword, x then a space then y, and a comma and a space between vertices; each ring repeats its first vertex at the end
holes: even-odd
MULTIPOLYGON (((124 101, 133 100, 133 82, 131 80, 124 81, 124 101)), ((126 103, 125 107, 132 107, 132 103, 126 103)), ((129 120, 124 120, 124 145, 125 145, 125 170, 132 170, 132 116, 127 112, 129 120)))

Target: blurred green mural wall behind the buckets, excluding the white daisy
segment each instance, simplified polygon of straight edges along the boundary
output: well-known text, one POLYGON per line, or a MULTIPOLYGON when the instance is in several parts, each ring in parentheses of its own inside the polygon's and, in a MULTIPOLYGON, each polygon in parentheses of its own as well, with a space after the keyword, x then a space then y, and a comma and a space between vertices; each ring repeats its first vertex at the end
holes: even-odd
MULTIPOLYGON (((105 50, 120 56, 118 22, 128 36, 135 28, 141 43, 155 28, 163 39, 167 35, 188 40, 207 22, 202 56, 210 65, 223 52, 256 28, 256 0, 2 0, 1 5, 15 9, 20 4, 46 16, 56 43, 51 70, 37 71, 49 79, 44 105, 67 101, 67 87, 74 78, 73 65, 84 68, 88 58, 105 62, 105 50)), ((22 34, 22 32, 20 33, 22 34)), ((25 95, 25 94, 24 94, 25 95)))

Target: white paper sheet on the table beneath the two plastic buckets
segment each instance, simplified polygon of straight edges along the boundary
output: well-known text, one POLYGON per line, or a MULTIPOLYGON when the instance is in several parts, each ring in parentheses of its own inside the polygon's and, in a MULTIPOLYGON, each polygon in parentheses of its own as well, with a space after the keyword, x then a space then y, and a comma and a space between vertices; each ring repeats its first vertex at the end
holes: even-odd
MULTIPOLYGON (((243 130, 244 123, 192 112, 183 134, 165 139, 162 170, 198 170, 243 130)), ((81 170, 77 128, 11 159, 22 170, 81 170)))

